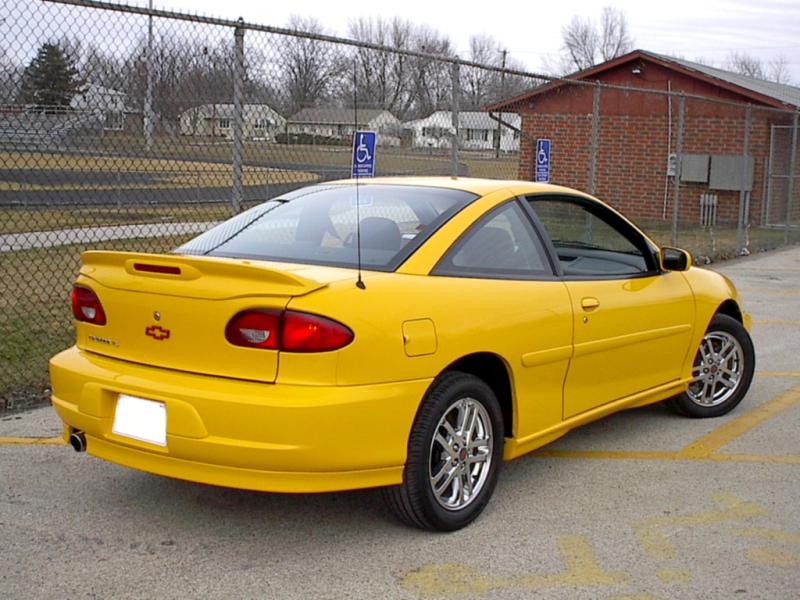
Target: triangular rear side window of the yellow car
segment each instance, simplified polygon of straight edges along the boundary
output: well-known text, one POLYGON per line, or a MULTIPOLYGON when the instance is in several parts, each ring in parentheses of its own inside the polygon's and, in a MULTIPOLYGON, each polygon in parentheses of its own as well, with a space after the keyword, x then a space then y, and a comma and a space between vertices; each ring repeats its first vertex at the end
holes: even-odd
POLYGON ((546 252, 516 201, 484 216, 439 261, 434 275, 530 279, 552 275, 546 252))

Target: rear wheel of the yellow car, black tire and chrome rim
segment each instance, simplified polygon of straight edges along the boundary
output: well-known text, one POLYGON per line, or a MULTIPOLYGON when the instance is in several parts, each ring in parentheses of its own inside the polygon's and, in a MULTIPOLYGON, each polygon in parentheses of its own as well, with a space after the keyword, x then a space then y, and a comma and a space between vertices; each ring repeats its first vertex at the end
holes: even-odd
POLYGON ((455 531, 486 507, 502 458, 503 417, 494 392, 473 375, 447 372, 417 412, 403 484, 384 495, 406 524, 455 531))

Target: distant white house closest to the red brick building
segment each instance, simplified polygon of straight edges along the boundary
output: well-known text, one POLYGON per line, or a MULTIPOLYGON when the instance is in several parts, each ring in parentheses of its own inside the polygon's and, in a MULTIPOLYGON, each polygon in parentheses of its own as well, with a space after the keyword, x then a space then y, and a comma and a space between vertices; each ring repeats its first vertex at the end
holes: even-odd
MULTIPOLYGON (((409 131, 414 148, 449 148, 452 137, 452 113, 436 111, 424 119, 408 121, 403 129, 409 131)), ((500 115, 494 115, 500 117, 500 115)), ((517 152, 519 150, 520 117, 514 113, 503 113, 501 120, 492 118, 488 112, 464 111, 458 113, 459 147, 465 150, 494 150, 517 152), (508 127, 510 125, 511 127, 508 127)))

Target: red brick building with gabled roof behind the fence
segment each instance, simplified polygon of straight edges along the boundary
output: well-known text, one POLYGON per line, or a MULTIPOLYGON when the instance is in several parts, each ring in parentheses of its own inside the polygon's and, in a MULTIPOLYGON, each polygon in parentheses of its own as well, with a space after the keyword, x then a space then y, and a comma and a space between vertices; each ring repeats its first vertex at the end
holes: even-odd
POLYGON ((644 50, 566 79, 578 83, 553 80, 487 107, 522 117, 520 179, 535 178, 536 140, 549 139, 550 182, 594 188, 635 218, 671 217, 680 130, 681 220, 736 224, 741 204, 743 223, 785 223, 800 88, 644 50))

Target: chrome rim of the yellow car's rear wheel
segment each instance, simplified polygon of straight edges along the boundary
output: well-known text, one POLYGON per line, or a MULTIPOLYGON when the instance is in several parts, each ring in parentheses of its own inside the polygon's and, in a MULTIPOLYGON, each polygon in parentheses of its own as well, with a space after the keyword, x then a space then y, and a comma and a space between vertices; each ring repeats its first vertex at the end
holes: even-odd
POLYGON ((439 419, 429 453, 433 496, 447 510, 461 510, 477 498, 492 465, 492 421, 474 398, 450 405, 439 419))

